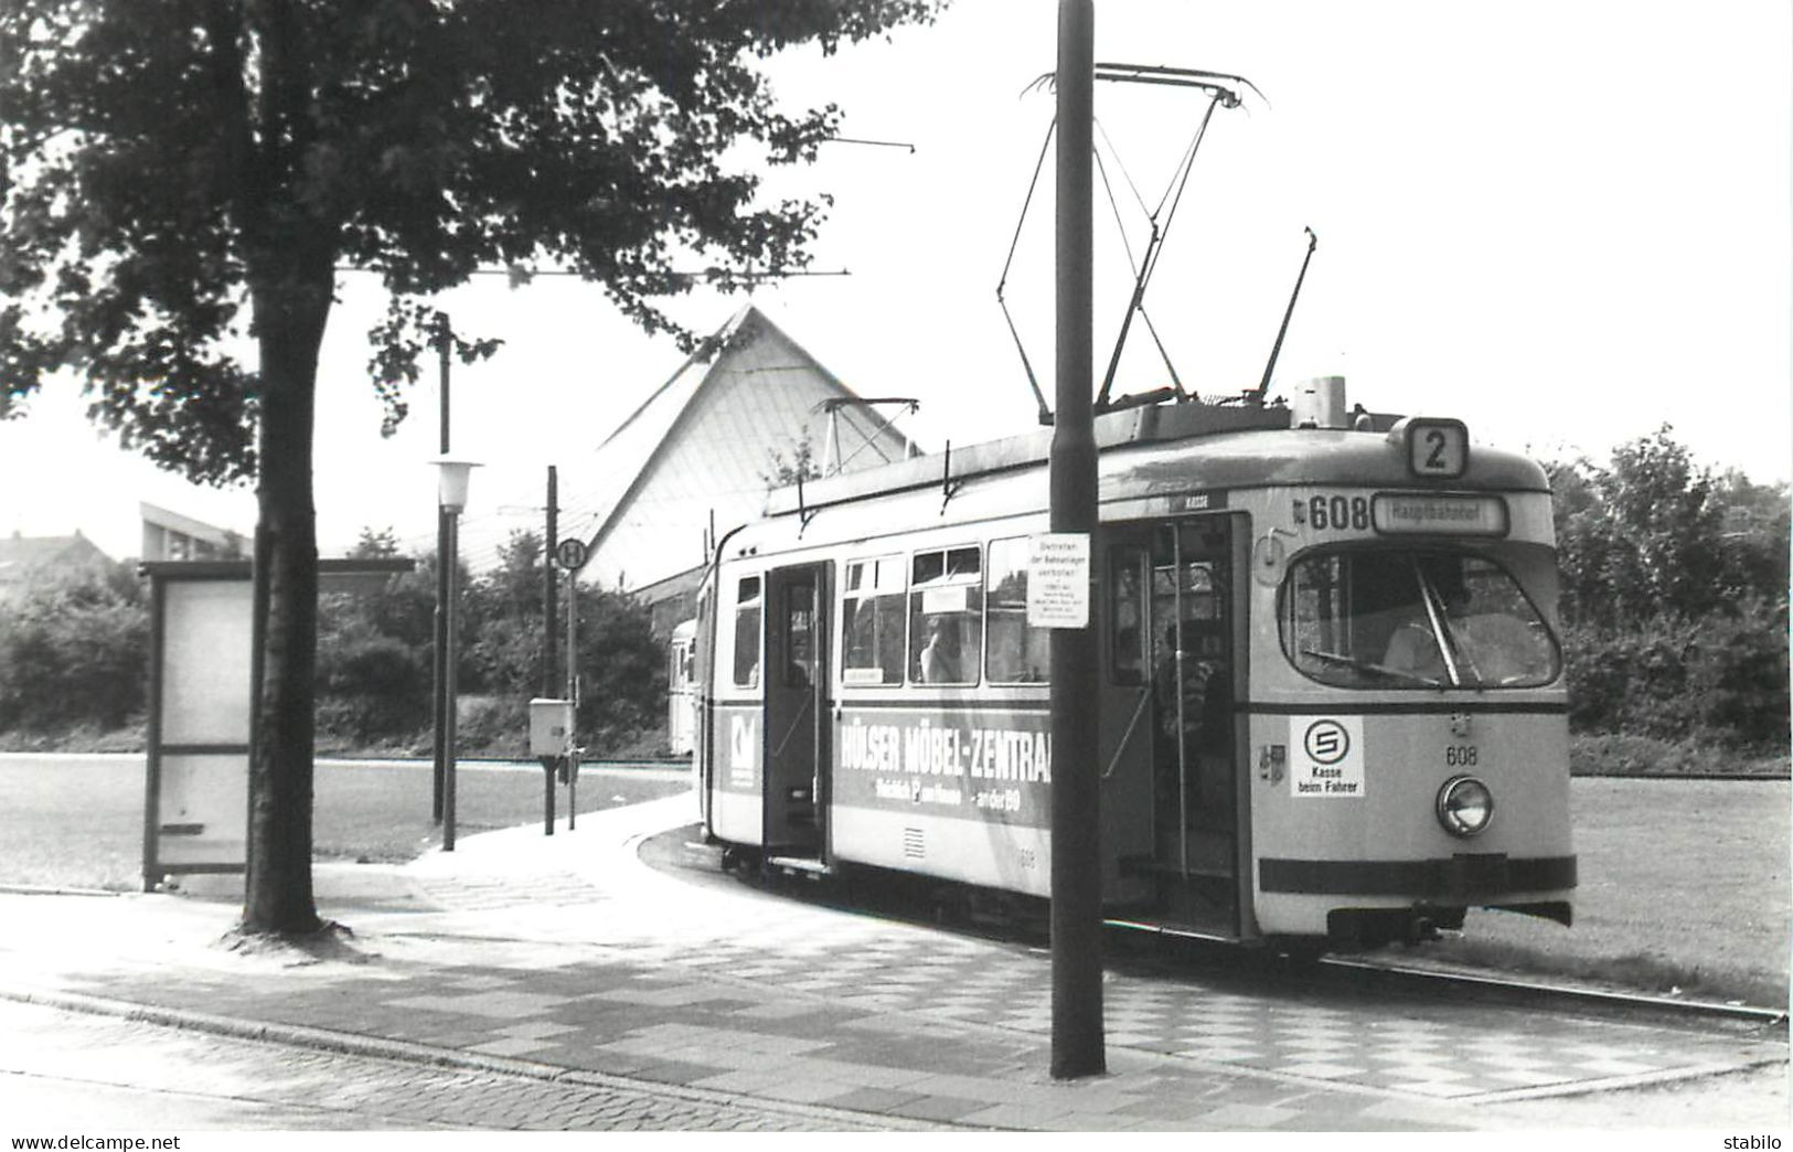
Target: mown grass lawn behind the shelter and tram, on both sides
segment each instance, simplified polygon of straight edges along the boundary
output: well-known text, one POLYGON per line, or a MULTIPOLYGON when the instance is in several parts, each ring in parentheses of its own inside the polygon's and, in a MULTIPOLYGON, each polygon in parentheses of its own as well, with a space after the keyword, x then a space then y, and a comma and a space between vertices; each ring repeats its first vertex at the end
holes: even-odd
MULTIPOLYGON (((541 820, 541 772, 463 766, 457 827, 541 820)), ((579 811, 685 788, 672 772, 586 770, 579 811)), ((321 764, 319 858, 411 860, 437 842, 427 764, 321 764)), ((1788 1003, 1788 781, 1578 777, 1576 926, 1470 912, 1443 964, 1599 980, 1655 992, 1788 1003)), ((565 816, 565 790, 556 797, 565 816)), ((0 885, 136 890, 140 757, 0 757, 0 885)))

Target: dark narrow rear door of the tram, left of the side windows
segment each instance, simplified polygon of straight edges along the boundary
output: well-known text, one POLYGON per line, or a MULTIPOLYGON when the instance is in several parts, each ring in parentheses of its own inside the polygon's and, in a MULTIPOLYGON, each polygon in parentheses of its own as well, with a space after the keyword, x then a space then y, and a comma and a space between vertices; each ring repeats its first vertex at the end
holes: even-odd
POLYGON ((828 565, 766 574, 766 851, 819 858, 828 763, 828 565))

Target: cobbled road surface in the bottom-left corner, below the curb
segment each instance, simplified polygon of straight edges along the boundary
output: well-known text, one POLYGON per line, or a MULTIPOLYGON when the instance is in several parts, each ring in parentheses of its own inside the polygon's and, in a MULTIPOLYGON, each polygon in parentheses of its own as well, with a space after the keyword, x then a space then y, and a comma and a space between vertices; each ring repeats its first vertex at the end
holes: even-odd
POLYGON ((823 1130, 800 1113, 430 1068, 0 1001, 0 1138, 194 1130, 823 1130))

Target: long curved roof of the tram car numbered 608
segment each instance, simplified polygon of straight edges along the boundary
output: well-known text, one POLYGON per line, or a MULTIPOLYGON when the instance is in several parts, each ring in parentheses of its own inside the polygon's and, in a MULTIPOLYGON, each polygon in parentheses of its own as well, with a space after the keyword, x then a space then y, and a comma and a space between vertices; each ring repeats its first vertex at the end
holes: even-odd
MULTIPOLYGON (((1201 402, 1156 404, 1096 418, 1103 499, 1131 492, 1167 493, 1284 484, 1375 484, 1549 492, 1535 461, 1474 447, 1468 472, 1451 481, 1408 472, 1399 418, 1370 415, 1368 429, 1291 429, 1286 407, 1232 407, 1201 402)), ((766 515, 816 511, 974 477, 1042 468, 1052 429, 918 456, 880 468, 776 488, 766 515)))

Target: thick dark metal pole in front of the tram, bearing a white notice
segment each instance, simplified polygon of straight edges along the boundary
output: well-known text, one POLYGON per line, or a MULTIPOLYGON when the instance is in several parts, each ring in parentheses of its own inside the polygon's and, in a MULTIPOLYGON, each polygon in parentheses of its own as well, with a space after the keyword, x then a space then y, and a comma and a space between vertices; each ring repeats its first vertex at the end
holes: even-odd
MULTIPOLYGON (((1049 481, 1051 524, 1054 533, 1087 535, 1096 531, 1096 431, 1090 404, 1094 41, 1092 0, 1060 0, 1058 415, 1049 481)), ((1094 554, 1092 549, 1092 560, 1094 554)), ((1096 680, 1094 628, 1054 628, 1052 1077, 1060 1080, 1106 1071, 1096 680)))

